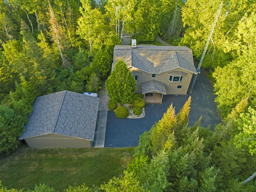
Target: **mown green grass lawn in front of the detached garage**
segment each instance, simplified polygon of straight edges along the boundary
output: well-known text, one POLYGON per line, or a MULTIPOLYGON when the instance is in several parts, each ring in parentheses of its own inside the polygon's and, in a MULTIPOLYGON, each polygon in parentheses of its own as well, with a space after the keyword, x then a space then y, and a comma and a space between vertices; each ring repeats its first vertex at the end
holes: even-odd
POLYGON ((47 184, 62 192, 83 183, 100 186, 120 176, 132 160, 134 148, 46 148, 22 147, 0 157, 0 180, 7 188, 34 189, 47 184))

